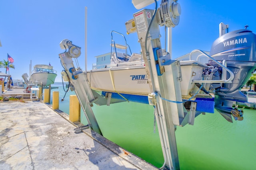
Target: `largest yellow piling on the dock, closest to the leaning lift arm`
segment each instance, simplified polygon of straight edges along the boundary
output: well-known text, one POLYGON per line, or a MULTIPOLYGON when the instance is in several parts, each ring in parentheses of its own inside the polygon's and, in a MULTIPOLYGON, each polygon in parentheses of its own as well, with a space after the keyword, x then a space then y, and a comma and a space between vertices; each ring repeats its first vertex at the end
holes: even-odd
POLYGON ((76 95, 69 96, 69 120, 72 122, 80 121, 81 106, 76 95))

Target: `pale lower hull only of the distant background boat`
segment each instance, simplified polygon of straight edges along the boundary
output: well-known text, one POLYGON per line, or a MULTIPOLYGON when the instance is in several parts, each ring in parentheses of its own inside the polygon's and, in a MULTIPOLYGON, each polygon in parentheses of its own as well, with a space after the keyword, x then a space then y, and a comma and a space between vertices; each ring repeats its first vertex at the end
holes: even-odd
POLYGON ((38 84, 39 86, 49 86, 54 84, 57 74, 48 72, 37 72, 31 75, 30 82, 38 84))

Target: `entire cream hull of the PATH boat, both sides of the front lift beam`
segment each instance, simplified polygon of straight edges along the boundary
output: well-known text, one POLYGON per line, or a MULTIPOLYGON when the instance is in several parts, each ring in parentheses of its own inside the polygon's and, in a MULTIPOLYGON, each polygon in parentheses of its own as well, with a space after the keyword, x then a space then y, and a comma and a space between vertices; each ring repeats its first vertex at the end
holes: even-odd
MULTIPOLYGON (((195 89, 198 90, 192 81, 202 79, 202 71, 205 66, 195 61, 181 61, 180 65, 182 96, 190 98, 190 93, 195 89)), ((151 93, 146 69, 143 65, 90 70, 87 72, 87 77, 91 89, 95 91, 139 96, 148 96, 151 93)))

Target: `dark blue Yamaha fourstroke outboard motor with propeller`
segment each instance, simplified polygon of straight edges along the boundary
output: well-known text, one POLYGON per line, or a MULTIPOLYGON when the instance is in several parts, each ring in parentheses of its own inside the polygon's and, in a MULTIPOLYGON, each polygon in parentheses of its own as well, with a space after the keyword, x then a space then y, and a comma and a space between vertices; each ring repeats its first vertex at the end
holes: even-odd
MULTIPOLYGON (((220 84, 215 89, 214 98, 215 109, 230 122, 231 115, 235 120, 242 120, 239 116, 242 111, 236 107, 233 109, 232 106, 234 101, 247 102, 240 90, 256 69, 256 35, 247 27, 225 33, 223 31, 226 31, 228 25, 220 23, 220 37, 214 41, 210 51, 212 58, 221 63, 226 61, 227 68, 234 73, 232 83, 220 84)), ((229 76, 227 74, 227 78, 229 76)))

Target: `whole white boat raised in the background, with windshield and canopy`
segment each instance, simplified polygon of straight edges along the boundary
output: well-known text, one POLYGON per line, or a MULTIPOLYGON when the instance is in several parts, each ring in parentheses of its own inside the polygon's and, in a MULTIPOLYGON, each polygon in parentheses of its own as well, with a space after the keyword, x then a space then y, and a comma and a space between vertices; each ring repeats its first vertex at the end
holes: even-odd
POLYGON ((57 71, 53 69, 53 66, 46 64, 36 64, 34 70, 31 72, 30 82, 38 84, 39 86, 49 86, 54 84, 57 71))

